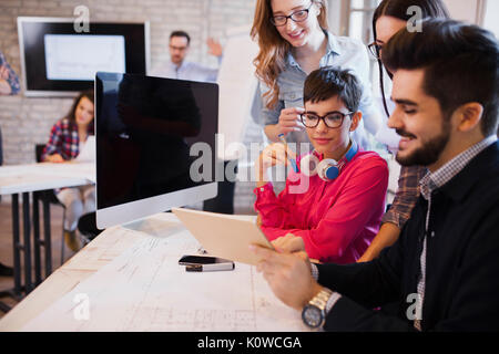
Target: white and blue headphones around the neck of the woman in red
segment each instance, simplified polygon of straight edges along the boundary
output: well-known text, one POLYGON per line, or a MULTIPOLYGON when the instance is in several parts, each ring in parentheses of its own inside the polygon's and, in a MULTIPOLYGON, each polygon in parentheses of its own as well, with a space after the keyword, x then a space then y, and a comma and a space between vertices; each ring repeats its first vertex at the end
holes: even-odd
POLYGON ((312 154, 302 158, 302 160, 299 162, 299 170, 305 176, 312 177, 318 175, 320 179, 325 181, 334 180, 339 176, 343 167, 354 158, 357 152, 357 143, 352 142, 352 146, 345 154, 345 157, 339 162, 336 162, 333 158, 325 158, 323 160, 319 160, 319 158, 316 156, 317 153, 314 150, 312 154))

